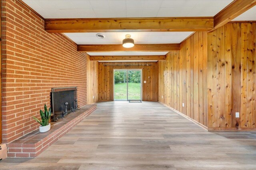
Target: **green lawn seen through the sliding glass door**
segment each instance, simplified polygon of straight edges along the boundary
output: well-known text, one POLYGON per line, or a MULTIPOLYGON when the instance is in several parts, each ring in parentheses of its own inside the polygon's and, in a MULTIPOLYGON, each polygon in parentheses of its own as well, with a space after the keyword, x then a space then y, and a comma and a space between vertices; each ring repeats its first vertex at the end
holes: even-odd
MULTIPOLYGON (((126 100, 126 83, 115 84, 115 100, 126 100)), ((128 100, 140 100, 140 83, 128 83, 128 100)))

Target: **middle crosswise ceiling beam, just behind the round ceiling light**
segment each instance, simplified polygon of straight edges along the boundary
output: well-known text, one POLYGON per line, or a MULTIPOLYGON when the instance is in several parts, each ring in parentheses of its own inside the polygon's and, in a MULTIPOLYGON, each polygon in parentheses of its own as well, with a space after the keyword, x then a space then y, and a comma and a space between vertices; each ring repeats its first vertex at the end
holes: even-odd
POLYGON ((180 44, 135 44, 132 48, 124 48, 122 44, 77 45, 79 52, 114 52, 114 51, 178 51, 180 44))

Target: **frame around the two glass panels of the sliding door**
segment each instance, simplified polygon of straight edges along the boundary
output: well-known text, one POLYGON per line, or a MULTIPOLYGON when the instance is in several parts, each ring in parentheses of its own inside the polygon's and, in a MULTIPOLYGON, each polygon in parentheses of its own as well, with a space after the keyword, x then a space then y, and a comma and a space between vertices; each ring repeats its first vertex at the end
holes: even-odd
POLYGON ((113 69, 113 99, 114 101, 133 101, 133 100, 128 100, 128 71, 133 71, 133 70, 137 70, 140 71, 140 100, 142 100, 142 69, 140 68, 131 68, 131 69, 127 69, 127 68, 119 68, 119 69, 113 69), (116 100, 115 99, 115 71, 124 71, 126 70, 126 100, 116 100))

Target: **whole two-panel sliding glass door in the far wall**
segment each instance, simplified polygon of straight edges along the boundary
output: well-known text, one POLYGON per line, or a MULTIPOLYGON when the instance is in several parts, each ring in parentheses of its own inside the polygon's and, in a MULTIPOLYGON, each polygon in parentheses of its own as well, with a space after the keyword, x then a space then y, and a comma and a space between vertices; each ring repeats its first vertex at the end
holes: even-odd
POLYGON ((114 100, 141 100, 142 70, 114 70, 114 100))

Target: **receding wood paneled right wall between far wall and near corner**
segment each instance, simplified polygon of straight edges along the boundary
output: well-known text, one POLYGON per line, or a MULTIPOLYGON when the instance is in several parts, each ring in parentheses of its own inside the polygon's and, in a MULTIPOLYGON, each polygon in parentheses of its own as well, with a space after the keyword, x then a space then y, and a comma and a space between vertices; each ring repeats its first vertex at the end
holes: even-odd
POLYGON ((207 33, 188 37, 158 66, 158 101, 207 126, 207 33))

